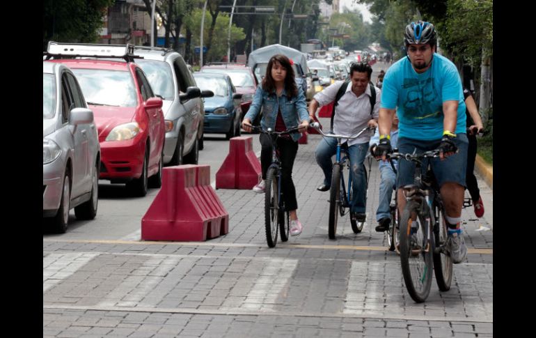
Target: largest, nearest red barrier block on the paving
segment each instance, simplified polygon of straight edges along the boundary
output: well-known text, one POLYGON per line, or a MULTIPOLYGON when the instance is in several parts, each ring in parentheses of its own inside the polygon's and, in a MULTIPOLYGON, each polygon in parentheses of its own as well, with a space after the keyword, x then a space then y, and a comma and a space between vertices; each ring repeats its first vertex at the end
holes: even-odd
POLYGON ((210 166, 162 171, 162 187, 141 219, 142 240, 207 240, 228 233, 229 214, 210 187, 210 166))

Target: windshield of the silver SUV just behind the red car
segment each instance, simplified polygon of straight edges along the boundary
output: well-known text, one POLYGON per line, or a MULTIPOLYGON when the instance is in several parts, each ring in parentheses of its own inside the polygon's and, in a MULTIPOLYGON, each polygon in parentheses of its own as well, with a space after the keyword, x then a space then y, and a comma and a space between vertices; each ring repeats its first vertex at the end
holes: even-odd
POLYGON ((175 91, 173 84, 173 72, 168 63, 156 60, 137 60, 151 85, 152 91, 160 95, 164 100, 173 100, 175 91))

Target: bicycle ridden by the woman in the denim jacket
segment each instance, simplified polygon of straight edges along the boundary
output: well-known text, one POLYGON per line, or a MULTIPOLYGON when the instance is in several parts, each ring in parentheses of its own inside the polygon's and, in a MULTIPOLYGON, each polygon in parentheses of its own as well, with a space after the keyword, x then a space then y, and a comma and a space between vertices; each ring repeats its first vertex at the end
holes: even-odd
POLYGON ((265 228, 268 246, 275 247, 278 230, 281 231, 281 240, 283 242, 288 240, 290 231, 289 213, 285 208, 283 192, 281 191, 281 160, 279 160, 277 139, 282 135, 298 132, 299 128, 289 128, 283 132, 274 132, 271 128, 264 130, 255 125, 251 126, 251 128, 268 135, 271 141, 271 164, 266 172, 265 181, 265 228))

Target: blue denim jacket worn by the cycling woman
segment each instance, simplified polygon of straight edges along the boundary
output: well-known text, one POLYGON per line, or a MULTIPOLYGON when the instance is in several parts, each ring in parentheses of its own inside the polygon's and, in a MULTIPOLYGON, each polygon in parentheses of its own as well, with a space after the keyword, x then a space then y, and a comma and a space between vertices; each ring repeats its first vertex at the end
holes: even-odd
MULTIPOLYGON (((275 130, 280 105, 281 115, 287 128, 297 127, 304 120, 309 121, 304 91, 300 87, 298 87, 298 96, 289 100, 285 89, 283 89, 281 96, 278 97, 275 93, 268 93, 262 89, 261 84, 258 85, 255 96, 253 96, 253 102, 244 118, 255 121, 255 117, 259 114, 262 107, 260 126, 262 129, 271 128, 271 130, 275 130)), ((293 133, 290 136, 294 141, 298 141, 301 134, 293 133)))

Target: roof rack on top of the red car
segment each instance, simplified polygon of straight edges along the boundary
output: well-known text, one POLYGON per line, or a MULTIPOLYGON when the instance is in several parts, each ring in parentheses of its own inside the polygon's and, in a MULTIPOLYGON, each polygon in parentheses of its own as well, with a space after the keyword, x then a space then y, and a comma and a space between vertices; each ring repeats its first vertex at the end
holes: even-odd
POLYGON ((47 51, 43 52, 47 60, 54 59, 74 59, 77 57, 90 58, 118 58, 127 62, 134 59, 143 59, 142 56, 134 55, 134 45, 105 45, 105 44, 85 44, 85 43, 56 43, 49 41, 47 51))

